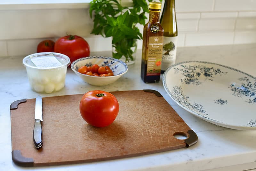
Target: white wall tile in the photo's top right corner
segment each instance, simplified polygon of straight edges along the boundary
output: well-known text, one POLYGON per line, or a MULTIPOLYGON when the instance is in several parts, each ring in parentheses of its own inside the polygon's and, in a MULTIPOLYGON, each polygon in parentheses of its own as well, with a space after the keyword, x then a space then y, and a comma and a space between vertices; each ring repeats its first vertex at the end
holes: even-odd
POLYGON ((214 11, 255 11, 255 0, 215 0, 214 11))

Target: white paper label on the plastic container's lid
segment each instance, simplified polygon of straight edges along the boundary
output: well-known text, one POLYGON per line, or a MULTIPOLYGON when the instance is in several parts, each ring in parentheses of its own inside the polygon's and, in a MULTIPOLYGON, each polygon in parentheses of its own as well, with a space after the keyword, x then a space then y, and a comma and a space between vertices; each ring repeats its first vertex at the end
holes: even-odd
POLYGON ((62 65, 62 63, 53 55, 53 53, 40 57, 30 56, 30 60, 36 67, 46 68, 62 65))

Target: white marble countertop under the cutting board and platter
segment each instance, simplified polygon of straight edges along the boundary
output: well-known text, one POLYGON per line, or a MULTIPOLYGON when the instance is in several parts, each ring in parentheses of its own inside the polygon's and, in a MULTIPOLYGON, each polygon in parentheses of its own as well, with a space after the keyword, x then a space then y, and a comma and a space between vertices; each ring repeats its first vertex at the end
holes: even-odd
MULTIPOLYGON (((91 55, 109 56, 111 52, 95 52, 91 55)), ((161 80, 146 84, 140 78, 141 51, 137 52, 134 65, 116 82, 95 87, 84 83, 68 68, 65 87, 42 97, 82 94, 89 90, 104 91, 155 89, 174 108, 187 125, 195 131, 198 142, 189 147, 168 152, 116 159, 102 162, 65 166, 36 167, 38 170, 247 170, 256 168, 256 131, 240 131, 216 126, 201 120, 178 106, 167 95, 161 80)), ((10 104, 19 99, 36 98, 38 93, 29 87, 26 69, 22 65, 24 57, 0 58, 0 170, 30 170, 12 162, 10 104)), ((223 46, 180 47, 176 62, 208 61, 242 70, 256 76, 256 44, 223 46)))

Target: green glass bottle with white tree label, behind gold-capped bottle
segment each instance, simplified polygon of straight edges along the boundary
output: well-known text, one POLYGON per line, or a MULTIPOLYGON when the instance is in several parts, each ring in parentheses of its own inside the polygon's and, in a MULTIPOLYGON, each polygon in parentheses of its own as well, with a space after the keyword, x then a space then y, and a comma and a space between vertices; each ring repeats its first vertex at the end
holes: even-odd
POLYGON ((175 14, 175 0, 165 0, 160 23, 164 28, 164 45, 161 73, 175 64, 178 29, 175 14))

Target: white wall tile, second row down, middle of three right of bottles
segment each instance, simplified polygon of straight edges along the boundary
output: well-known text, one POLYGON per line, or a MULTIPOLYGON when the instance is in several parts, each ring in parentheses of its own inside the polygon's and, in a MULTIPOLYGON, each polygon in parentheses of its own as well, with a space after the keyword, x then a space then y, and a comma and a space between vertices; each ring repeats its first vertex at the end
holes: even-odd
POLYGON ((235 29, 235 18, 229 19, 200 19, 198 30, 234 30, 235 29))

